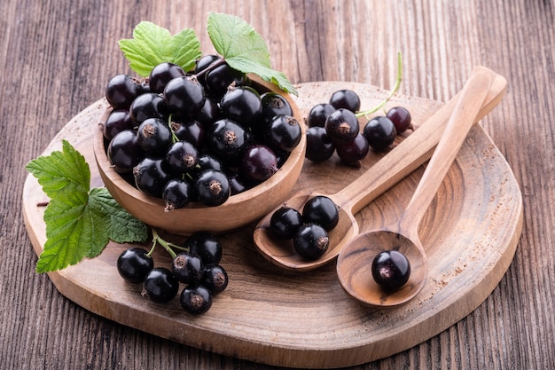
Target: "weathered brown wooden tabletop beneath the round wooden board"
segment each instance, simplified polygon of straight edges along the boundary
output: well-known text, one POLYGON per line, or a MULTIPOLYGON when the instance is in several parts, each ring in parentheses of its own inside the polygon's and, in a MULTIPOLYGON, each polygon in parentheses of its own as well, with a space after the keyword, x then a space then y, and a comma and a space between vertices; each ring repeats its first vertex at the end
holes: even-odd
POLYGON ((21 213, 27 161, 66 122, 127 72, 117 41, 140 20, 176 33, 193 28, 203 52, 210 11, 238 15, 270 47, 293 83, 350 81, 448 100, 476 65, 504 75, 504 101, 482 121, 512 167, 524 228, 508 272, 453 327, 395 356, 355 369, 555 368, 555 3, 552 0, 0 3, 0 368, 270 369, 147 335, 69 301, 45 274, 21 213))

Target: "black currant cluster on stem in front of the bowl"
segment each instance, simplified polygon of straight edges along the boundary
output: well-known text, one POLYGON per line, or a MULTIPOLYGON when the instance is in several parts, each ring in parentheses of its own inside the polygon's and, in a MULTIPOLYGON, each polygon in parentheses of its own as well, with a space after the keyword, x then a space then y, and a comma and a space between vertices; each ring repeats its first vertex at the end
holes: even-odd
POLYGON ((142 295, 155 303, 168 303, 176 297, 180 284, 184 284, 179 295, 184 311, 193 315, 208 311, 213 296, 222 293, 228 285, 227 272, 220 265, 220 240, 210 232, 195 232, 183 246, 177 246, 161 239, 154 230, 152 234, 150 251, 129 248, 118 257, 117 269, 121 277, 130 283, 142 284, 142 295), (152 252, 158 243, 173 257, 171 269, 154 267, 152 252), (181 251, 176 254, 173 248, 181 251))

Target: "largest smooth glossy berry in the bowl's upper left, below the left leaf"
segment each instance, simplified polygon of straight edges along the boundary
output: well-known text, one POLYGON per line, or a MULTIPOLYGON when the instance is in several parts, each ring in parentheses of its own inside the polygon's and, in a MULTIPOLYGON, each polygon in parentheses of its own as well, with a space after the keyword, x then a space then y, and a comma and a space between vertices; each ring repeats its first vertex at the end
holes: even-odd
POLYGON ((205 100, 204 88, 195 77, 174 78, 164 89, 164 101, 168 111, 184 117, 198 114, 205 100))

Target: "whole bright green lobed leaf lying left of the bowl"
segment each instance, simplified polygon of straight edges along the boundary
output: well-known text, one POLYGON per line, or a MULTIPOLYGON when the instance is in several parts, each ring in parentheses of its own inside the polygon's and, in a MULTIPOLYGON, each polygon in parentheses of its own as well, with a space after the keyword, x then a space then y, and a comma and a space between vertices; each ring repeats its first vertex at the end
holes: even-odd
POLYGON ((61 152, 38 157, 26 169, 51 199, 44 211, 46 242, 36 272, 98 256, 109 240, 144 242, 148 237, 147 226, 122 209, 106 188, 90 190, 89 165, 66 140, 61 152))

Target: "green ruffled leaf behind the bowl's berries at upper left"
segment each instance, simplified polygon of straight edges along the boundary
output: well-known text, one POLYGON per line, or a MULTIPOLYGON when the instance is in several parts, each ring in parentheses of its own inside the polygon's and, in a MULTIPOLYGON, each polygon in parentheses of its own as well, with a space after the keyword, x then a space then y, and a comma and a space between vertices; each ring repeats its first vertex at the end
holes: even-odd
POLYGON ((201 55, 199 38, 191 28, 172 36, 168 29, 149 21, 137 24, 132 39, 122 39, 118 43, 129 60, 129 67, 144 77, 162 62, 175 63, 188 71, 201 55))

